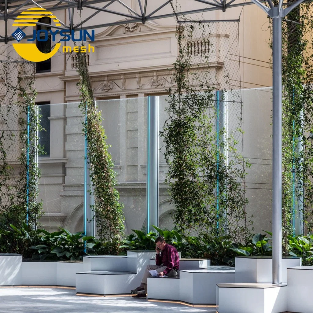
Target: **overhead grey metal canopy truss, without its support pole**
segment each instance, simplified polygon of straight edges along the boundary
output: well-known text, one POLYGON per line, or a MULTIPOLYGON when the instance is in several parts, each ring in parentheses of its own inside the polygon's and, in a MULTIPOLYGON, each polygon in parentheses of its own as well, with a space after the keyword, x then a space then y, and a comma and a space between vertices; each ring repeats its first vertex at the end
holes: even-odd
MULTIPOLYGON (((59 2, 55 0, 23 0, 23 1, 16 1, 16 0, 0 0, 0 20, 5 21, 5 29, 4 33, 0 33, 0 42, 8 43, 9 41, 15 40, 11 34, 8 34, 8 23, 10 21, 14 21, 21 12, 27 10, 28 8, 38 7, 38 8, 45 8, 47 11, 56 12, 58 10, 68 10, 68 24, 65 21, 61 21, 61 26, 55 25, 47 25, 45 23, 40 22, 32 22, 38 25, 48 26, 55 29, 60 30, 67 30, 67 31, 79 31, 81 29, 95 29, 113 25, 121 25, 121 24, 128 24, 128 23, 146 23, 146 21, 156 20, 160 18, 168 18, 173 16, 182 16, 182 15, 189 15, 194 13, 203 13, 207 11, 214 11, 214 10, 222 10, 225 11, 227 8, 234 8, 242 6, 243 3, 234 3, 238 0, 188 0, 193 1, 195 4, 198 3, 201 5, 201 8, 194 9, 194 10, 177 10, 177 12, 169 13, 169 14, 159 14, 161 9, 164 7, 171 7, 173 0, 163 0, 162 4, 159 5, 153 11, 149 11, 149 2, 151 0, 137 0, 139 6, 139 12, 136 12, 134 9, 130 8, 125 4, 126 1, 122 0, 59 0, 59 2), (119 7, 119 10, 110 9, 112 5, 116 4, 119 7), (74 24, 74 11, 83 10, 84 8, 92 9, 94 12, 91 13, 88 17, 86 17, 80 23, 74 24), (93 18, 95 15, 99 13, 105 13, 106 16, 108 14, 114 15, 117 18, 123 18, 123 20, 117 20, 111 23, 103 23, 103 24, 95 24, 95 25, 88 25, 87 22, 93 18)), ((154 0, 156 1, 156 0, 154 0)), ((161 2, 161 1, 160 1, 161 2)), ((264 2, 264 1, 261 1, 264 2)), ((248 1, 244 3, 244 5, 253 4, 253 1, 248 1)), ((172 10, 172 7, 171 7, 172 10)), ((27 26, 24 26, 26 28, 27 26)), ((28 35, 25 38, 32 38, 32 35, 28 35)))

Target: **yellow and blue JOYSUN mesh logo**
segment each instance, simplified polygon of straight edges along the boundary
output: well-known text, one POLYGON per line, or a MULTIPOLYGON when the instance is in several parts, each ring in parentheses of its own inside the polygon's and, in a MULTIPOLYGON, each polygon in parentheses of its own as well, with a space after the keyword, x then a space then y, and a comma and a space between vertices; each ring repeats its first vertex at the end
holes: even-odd
MULTIPOLYGON (((51 18, 51 24, 52 21, 54 22, 56 27, 60 27, 61 23, 56 18, 55 15, 53 15, 52 12, 47 11, 44 8, 29 8, 27 11, 23 11, 18 15, 18 17, 14 20, 13 26, 17 26, 18 28, 12 33, 12 36, 16 39, 18 43, 13 44, 13 48, 15 51, 23 58, 31 62, 41 62, 47 59, 50 59, 54 54, 57 53, 59 50, 61 43, 63 41, 86 41, 87 37, 90 39, 90 41, 95 40, 95 31, 91 30, 91 34, 88 33, 87 30, 80 30, 76 34, 77 38, 75 37, 75 32, 72 30, 71 32, 67 29, 38 29, 36 30, 36 23, 39 21, 39 18, 42 17, 49 17, 51 18), (28 27, 28 26, 35 26, 35 29, 33 29, 33 38, 27 39, 27 42, 29 43, 20 43, 22 39, 26 37, 26 33, 23 32, 23 30, 20 27, 28 27), (56 41, 56 35, 60 35, 60 40, 58 43, 56 43, 53 47, 53 49, 49 53, 43 53, 41 52, 36 45, 36 41, 56 41)), ((25 29, 25 28, 24 28, 25 29)), ((86 46, 75 46, 73 48, 73 52, 94 52, 95 48, 91 46, 90 44, 88 47, 86 46)), ((70 46, 63 46, 63 52, 72 52, 72 48, 70 46)))

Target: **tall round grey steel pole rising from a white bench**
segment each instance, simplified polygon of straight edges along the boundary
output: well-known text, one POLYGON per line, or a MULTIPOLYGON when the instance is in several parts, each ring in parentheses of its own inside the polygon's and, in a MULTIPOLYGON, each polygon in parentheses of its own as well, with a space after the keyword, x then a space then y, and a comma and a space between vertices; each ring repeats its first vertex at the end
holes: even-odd
POLYGON ((273 8, 273 284, 281 283, 281 21, 278 8, 273 8), (277 9, 277 15, 275 14, 277 9), (275 16, 276 15, 276 16, 275 16))

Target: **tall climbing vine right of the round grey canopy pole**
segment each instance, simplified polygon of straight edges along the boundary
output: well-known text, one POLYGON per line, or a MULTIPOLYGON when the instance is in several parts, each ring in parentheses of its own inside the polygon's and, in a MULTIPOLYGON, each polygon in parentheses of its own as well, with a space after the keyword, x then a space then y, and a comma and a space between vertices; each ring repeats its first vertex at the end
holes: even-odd
POLYGON ((313 231, 312 4, 292 10, 282 27, 282 239, 313 231))

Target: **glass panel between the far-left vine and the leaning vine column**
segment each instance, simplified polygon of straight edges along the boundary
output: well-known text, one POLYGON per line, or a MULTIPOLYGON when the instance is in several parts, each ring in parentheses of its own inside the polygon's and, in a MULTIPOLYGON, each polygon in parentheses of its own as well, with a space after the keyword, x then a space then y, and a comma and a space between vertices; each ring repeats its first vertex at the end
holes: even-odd
MULTIPOLYGON (((51 104, 50 131, 42 131, 40 140, 50 141, 49 156, 38 158, 41 178, 38 201, 44 215, 39 222, 48 231, 60 227, 83 231, 84 143, 79 103, 51 104)), ((43 118, 45 105, 40 105, 43 118)), ((44 127, 46 130, 47 128, 44 127)))

